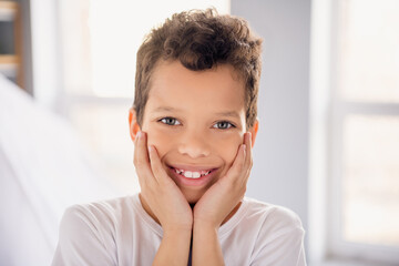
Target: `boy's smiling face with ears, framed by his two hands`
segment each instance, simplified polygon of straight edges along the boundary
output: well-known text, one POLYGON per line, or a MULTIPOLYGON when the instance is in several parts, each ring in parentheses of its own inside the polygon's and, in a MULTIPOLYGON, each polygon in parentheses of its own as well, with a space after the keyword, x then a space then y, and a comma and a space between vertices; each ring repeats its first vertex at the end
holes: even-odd
MULTIPOLYGON (((227 173, 243 143, 244 90, 231 65, 191 71, 173 61, 154 69, 141 130, 191 204, 227 173)), ((133 119, 132 137, 137 129, 133 119)))

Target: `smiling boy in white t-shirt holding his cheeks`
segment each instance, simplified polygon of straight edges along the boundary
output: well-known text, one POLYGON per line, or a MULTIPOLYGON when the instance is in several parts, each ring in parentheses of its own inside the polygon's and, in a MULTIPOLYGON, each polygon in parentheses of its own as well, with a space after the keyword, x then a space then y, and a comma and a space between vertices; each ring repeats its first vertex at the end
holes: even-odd
POLYGON ((66 209, 53 265, 306 265, 299 218, 244 197, 260 44, 213 10, 151 32, 129 117, 141 193, 66 209))

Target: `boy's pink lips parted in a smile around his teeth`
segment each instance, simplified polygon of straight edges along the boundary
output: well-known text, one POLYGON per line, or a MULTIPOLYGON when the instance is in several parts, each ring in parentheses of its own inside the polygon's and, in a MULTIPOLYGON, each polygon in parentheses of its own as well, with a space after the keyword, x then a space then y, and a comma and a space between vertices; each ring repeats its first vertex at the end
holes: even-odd
POLYGON ((209 166, 190 166, 190 165, 167 165, 168 167, 168 172, 171 174, 171 176, 174 177, 174 180, 184 186, 204 186, 206 185, 209 181, 212 181, 214 178, 214 176, 217 174, 217 170, 218 167, 209 167, 209 166), (207 171, 209 170, 211 173, 208 175, 205 176, 201 176, 198 178, 188 178, 185 177, 181 174, 177 174, 175 168, 177 170, 186 170, 186 171, 192 171, 192 172, 201 172, 201 171, 207 171))

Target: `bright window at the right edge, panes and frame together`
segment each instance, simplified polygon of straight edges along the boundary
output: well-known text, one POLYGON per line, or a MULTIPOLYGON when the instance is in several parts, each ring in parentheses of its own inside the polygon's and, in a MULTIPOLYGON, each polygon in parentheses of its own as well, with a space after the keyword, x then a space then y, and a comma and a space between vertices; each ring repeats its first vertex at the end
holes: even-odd
POLYGON ((328 250, 399 262, 399 2, 335 2, 328 250))

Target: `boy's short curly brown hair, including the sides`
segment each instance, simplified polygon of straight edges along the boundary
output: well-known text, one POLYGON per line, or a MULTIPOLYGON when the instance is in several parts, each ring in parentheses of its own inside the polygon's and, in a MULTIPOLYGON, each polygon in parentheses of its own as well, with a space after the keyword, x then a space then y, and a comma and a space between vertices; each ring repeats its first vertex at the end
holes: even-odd
POLYGON ((214 9, 175 13, 145 38, 137 51, 133 109, 142 125, 151 75, 160 60, 178 60, 185 68, 202 71, 231 64, 245 82, 246 125, 257 116, 262 39, 248 23, 214 9))

